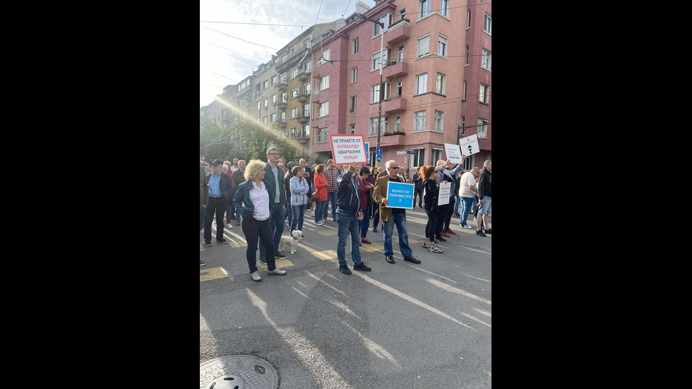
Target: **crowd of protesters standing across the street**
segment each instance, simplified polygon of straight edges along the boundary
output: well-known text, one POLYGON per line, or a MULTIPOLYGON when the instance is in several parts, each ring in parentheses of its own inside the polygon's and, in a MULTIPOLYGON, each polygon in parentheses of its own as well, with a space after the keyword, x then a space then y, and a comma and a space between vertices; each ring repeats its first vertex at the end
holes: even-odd
MULTIPOLYGON (((460 218, 460 227, 473 229, 467 224, 474 215, 476 234, 486 237, 492 231, 487 227, 487 215, 491 214, 492 175, 491 160, 483 168, 472 168, 463 172, 461 164, 439 160, 436 166, 422 166, 411 179, 402 172, 398 162, 390 160, 381 167, 361 167, 356 162, 340 171, 333 160, 327 164, 309 167, 306 160, 286 163, 279 157, 277 148, 267 150, 268 162, 261 160, 238 160, 210 164, 200 155, 200 230, 204 229, 205 246, 212 246, 212 222, 216 220, 216 242, 226 244, 223 229, 240 225, 247 241, 246 259, 250 277, 261 281, 256 265, 259 261, 267 265, 268 273, 285 275, 286 270, 276 267, 276 259, 287 256, 279 250, 284 230, 293 239, 305 239, 302 233, 304 217, 310 210, 317 226, 328 222, 331 205, 332 222, 338 228, 337 256, 339 271, 351 274, 346 262, 346 244, 351 236, 351 260, 354 270, 370 271, 360 255, 362 244, 371 244, 367 239, 373 220, 372 231, 378 232, 382 221, 384 255, 388 263, 395 263, 392 234, 397 227, 399 251, 404 261, 421 263, 414 258, 409 246, 405 208, 390 207, 387 188, 390 181, 414 184, 414 203, 425 210, 427 222, 423 247, 432 253, 443 253, 438 241, 446 241, 452 217, 460 218), (440 204, 441 184, 451 186, 449 198, 440 204), (459 208, 461 207, 461 213, 459 208), (480 215, 480 216, 478 216, 480 215), (225 217, 225 219, 224 219, 225 217), (224 223, 225 221, 225 223, 224 223), (233 223, 234 222, 234 223, 233 223), (299 231, 292 234, 294 231, 299 231)), ((445 196, 446 197, 446 196, 445 196)), ((200 266, 205 265, 200 260, 200 266)))

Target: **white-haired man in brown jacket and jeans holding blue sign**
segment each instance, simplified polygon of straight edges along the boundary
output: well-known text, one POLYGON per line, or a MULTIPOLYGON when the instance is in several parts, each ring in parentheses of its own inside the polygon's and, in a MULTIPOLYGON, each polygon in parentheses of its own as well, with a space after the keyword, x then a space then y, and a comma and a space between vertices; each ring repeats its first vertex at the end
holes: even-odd
POLYGON ((399 233, 399 251, 404 256, 404 261, 412 263, 420 263, 421 261, 413 258, 413 251, 408 245, 408 233, 406 231, 406 211, 403 208, 388 208, 389 201, 386 198, 387 186, 389 181, 402 182, 403 180, 397 176, 399 164, 395 160, 387 161, 385 164, 387 175, 381 176, 375 182, 375 190, 372 197, 375 202, 380 205, 380 218, 383 226, 384 234, 384 258, 388 263, 394 263, 394 250, 392 248, 392 232, 394 224, 399 233))

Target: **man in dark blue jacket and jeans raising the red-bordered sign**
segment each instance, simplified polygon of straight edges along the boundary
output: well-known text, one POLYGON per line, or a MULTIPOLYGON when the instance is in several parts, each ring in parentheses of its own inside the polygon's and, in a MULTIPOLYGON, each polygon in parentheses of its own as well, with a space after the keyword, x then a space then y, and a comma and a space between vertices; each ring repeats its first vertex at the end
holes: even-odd
POLYGON ((358 177, 354 174, 358 167, 356 162, 349 165, 348 171, 339 176, 337 183, 337 208, 338 217, 336 222, 339 225, 339 240, 336 245, 336 255, 339 259, 339 271, 344 274, 351 274, 351 270, 346 264, 346 237, 351 234, 351 260, 354 270, 369 272, 372 270, 361 260, 360 232, 358 221, 363 219, 363 210, 360 201, 360 190, 358 177))

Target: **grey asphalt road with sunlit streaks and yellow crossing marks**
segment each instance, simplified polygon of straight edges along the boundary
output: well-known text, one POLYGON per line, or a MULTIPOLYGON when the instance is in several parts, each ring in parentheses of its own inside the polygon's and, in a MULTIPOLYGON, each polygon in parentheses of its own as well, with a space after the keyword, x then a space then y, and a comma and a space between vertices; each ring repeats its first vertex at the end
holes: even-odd
MULTIPOLYGON (((279 388, 490 388, 492 386, 491 235, 459 227, 422 247, 426 215, 407 210, 414 257, 403 261, 394 229, 394 258, 383 254, 382 222, 360 248, 371 272, 343 275, 337 226, 306 217, 298 251, 278 261, 287 275, 249 276, 241 226, 229 244, 204 246, 200 232, 200 364, 248 354, 269 361, 279 388)), ((468 222, 475 225, 473 217, 468 222)), ((490 223, 492 227, 492 222, 490 223)), ((370 221, 372 227, 372 220, 370 221)), ((286 232, 285 232, 286 234, 286 232)), ((215 237, 215 227, 213 228, 215 237)), ((352 268, 350 243, 347 263, 352 268)))

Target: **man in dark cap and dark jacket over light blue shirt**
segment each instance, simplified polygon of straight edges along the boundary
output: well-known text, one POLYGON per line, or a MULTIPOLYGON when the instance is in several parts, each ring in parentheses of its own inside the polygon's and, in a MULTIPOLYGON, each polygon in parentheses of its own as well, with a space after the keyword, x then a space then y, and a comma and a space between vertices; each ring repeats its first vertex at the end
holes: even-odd
POLYGON ((223 237, 226 205, 232 199, 233 184, 231 176, 221 171, 223 162, 218 158, 211 162, 212 171, 207 174, 205 181, 209 191, 209 204, 204 213, 204 244, 211 246, 211 222, 216 213, 216 242, 228 243, 223 237))

